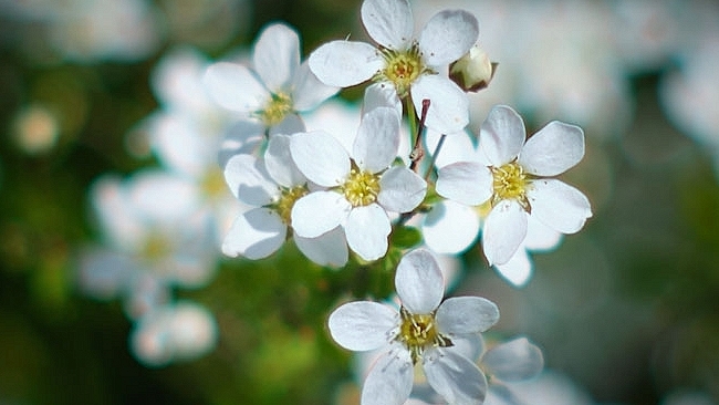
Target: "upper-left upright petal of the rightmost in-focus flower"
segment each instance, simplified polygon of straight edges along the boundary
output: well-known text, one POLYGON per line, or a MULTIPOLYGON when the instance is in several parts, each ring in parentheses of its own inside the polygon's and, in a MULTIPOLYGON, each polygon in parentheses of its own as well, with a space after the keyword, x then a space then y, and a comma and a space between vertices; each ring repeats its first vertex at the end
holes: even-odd
POLYGON ((522 150, 527 132, 522 117, 506 105, 494 106, 479 131, 479 148, 492 166, 513 160, 522 150))

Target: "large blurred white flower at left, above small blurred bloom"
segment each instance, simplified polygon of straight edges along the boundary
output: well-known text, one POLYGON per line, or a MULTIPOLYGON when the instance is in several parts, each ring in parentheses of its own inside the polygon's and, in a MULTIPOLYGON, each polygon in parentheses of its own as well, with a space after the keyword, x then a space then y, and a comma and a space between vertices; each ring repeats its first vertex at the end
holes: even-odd
POLYGON ((171 288, 197 288, 212 278, 213 229, 207 215, 196 211, 190 184, 147 170, 127 180, 103 177, 91 193, 104 246, 81 260, 83 291, 121 295, 136 319, 166 302, 171 288))

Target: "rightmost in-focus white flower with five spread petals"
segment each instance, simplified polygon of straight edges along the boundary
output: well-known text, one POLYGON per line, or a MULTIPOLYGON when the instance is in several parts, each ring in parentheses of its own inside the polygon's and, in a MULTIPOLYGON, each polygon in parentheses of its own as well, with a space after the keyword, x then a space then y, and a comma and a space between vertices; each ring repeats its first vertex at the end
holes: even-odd
POLYGON ((529 215, 562 233, 577 232, 592 216, 582 191, 549 177, 582 159, 582 128, 554 121, 525 139, 519 114, 496 106, 482 123, 479 137, 489 167, 482 162, 459 162, 438 174, 439 195, 471 206, 491 204, 482 230, 490 264, 512 258, 527 235, 529 215))

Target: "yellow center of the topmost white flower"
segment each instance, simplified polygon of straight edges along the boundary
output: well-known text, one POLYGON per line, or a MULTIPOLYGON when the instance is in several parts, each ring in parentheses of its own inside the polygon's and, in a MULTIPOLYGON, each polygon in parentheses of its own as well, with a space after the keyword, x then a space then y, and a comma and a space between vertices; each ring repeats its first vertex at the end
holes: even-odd
POLYGON ((407 96, 411 83, 419 75, 433 73, 421 62, 421 54, 417 44, 413 44, 406 51, 383 49, 381 52, 385 59, 385 68, 377 72, 374 80, 392 82, 400 98, 407 96))

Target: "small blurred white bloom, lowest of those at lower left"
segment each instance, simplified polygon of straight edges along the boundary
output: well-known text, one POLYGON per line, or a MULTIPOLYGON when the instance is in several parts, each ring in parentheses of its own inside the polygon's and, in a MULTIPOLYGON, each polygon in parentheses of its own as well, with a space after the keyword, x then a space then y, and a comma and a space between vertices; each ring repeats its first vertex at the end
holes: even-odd
POLYGON ((160 367, 207 354, 215 349, 217 339, 212 314, 197 303, 180 301, 155 308, 138 319, 131 331, 129 346, 140 363, 160 367))

